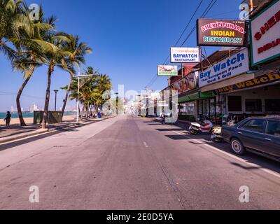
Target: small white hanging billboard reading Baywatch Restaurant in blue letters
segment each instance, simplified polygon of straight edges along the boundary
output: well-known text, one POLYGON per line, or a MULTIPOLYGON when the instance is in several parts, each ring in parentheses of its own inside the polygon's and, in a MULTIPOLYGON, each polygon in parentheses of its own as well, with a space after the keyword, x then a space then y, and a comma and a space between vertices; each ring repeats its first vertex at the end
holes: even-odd
POLYGON ((171 48, 172 63, 200 62, 200 48, 171 48))

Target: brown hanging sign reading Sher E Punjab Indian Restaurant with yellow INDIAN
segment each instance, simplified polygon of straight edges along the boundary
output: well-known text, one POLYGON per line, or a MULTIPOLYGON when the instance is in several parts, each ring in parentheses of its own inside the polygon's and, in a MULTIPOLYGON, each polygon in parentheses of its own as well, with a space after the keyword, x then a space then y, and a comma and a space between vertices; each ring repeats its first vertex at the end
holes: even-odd
POLYGON ((244 46, 246 22, 241 20, 197 20, 197 45, 244 46))

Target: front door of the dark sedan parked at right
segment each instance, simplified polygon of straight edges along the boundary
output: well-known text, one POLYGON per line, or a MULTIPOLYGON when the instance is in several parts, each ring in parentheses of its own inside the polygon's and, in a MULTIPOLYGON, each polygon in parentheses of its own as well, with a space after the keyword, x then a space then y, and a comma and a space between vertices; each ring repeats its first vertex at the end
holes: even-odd
POLYGON ((264 146, 265 119, 251 119, 237 128, 237 137, 242 144, 249 149, 262 151, 264 146))

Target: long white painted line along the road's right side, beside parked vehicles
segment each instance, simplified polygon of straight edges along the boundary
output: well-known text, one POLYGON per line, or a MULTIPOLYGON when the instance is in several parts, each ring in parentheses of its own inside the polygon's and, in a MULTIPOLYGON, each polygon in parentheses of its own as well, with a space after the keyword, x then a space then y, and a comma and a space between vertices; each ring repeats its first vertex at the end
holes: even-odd
POLYGON ((237 157, 236 155, 232 155, 232 154, 230 154, 230 153, 227 153, 227 152, 225 152, 225 151, 222 151, 222 150, 219 149, 219 148, 216 148, 216 147, 214 147, 214 146, 210 146, 210 145, 208 145, 208 144, 205 144, 203 141, 190 138, 190 137, 186 136, 186 134, 183 134, 183 133, 181 133, 181 132, 176 132, 176 131, 172 131, 172 132, 174 132, 175 134, 180 134, 181 136, 185 137, 186 139, 190 139, 190 140, 192 140, 192 141, 195 141, 195 142, 197 142, 198 144, 204 144, 204 146, 207 146, 208 148, 211 148, 211 149, 213 149, 214 151, 217 151, 217 152, 219 152, 219 153, 223 153, 224 155, 227 155, 227 156, 230 157, 230 158, 233 158, 233 159, 235 159, 235 160, 238 160, 239 162, 244 162, 246 165, 250 165, 250 166, 252 166, 252 167, 258 168, 258 169, 262 170, 263 172, 266 172, 267 174, 271 174, 271 175, 273 175, 273 176, 276 176, 276 177, 278 177, 278 178, 280 179, 280 174, 277 173, 277 172, 273 172, 273 171, 271 171, 271 170, 269 170, 269 169, 262 168, 262 167, 260 167, 260 166, 258 166, 258 165, 255 165, 255 164, 251 163, 251 162, 247 162, 246 160, 244 160, 244 159, 242 159, 242 158, 239 158, 239 157, 237 157))

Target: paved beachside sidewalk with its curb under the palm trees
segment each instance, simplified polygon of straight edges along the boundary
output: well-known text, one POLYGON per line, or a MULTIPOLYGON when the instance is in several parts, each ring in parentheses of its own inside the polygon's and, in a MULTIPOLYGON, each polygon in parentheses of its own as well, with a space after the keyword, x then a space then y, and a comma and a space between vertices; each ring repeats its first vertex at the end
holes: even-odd
POLYGON ((61 130, 67 127, 75 127, 79 125, 87 125, 89 123, 99 122, 112 118, 112 116, 104 118, 83 118, 79 124, 76 123, 76 120, 67 120, 59 124, 48 125, 48 129, 42 130, 41 125, 28 124, 26 127, 21 127, 20 125, 10 125, 6 127, 0 125, 0 144, 7 143, 9 141, 16 141, 31 137, 37 134, 43 134, 52 130, 61 130))

